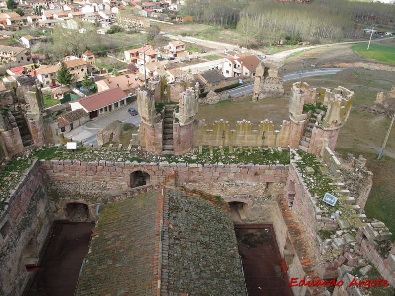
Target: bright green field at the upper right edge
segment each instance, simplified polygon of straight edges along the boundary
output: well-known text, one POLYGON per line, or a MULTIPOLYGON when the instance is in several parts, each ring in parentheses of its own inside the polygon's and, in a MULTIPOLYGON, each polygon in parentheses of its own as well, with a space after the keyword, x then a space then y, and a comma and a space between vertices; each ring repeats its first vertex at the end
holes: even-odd
POLYGON ((351 48, 364 60, 395 64, 395 47, 370 44, 367 50, 366 44, 358 44, 351 48))

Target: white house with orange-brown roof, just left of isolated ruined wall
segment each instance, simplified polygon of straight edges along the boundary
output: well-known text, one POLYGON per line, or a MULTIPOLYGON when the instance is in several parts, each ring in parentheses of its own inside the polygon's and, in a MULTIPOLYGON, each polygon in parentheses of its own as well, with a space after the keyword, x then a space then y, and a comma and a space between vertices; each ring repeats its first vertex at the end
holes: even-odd
POLYGON ((225 77, 249 76, 252 78, 255 77, 255 70, 260 62, 255 55, 228 58, 228 61, 222 63, 222 74, 225 77))

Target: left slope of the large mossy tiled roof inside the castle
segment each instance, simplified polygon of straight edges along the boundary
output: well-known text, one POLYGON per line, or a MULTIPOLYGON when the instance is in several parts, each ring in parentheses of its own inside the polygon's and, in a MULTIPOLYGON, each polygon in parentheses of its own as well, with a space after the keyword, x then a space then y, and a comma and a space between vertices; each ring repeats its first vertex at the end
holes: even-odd
POLYGON ((158 194, 153 190, 100 207, 77 295, 156 295, 158 194))

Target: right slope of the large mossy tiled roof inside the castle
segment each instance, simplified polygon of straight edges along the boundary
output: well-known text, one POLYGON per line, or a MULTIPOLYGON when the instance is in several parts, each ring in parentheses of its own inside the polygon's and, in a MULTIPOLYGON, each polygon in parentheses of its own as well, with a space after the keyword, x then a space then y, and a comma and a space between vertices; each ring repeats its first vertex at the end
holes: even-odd
POLYGON ((229 205, 178 189, 166 190, 166 206, 161 295, 246 295, 229 205))

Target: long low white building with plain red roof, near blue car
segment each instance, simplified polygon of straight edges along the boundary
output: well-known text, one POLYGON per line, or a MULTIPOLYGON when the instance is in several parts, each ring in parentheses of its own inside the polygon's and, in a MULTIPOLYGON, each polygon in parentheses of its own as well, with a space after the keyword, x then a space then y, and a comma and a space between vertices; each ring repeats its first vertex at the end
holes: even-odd
POLYGON ((71 110, 83 109, 94 119, 126 105, 126 98, 120 87, 111 88, 94 95, 70 102, 71 110))

